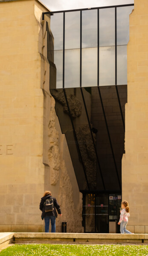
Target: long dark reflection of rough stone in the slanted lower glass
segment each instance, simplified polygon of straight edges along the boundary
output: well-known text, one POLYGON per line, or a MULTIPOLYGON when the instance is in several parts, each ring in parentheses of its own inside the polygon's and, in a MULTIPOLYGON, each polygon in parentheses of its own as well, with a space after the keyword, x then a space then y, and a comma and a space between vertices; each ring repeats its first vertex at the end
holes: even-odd
MULTIPOLYGON (((83 90, 83 96, 87 99, 86 108, 91 111, 91 105, 88 103, 91 99, 90 93, 83 90)), ((87 176, 90 189, 96 189, 96 153, 90 132, 90 126, 87 119, 86 110, 81 94, 81 89, 76 88, 70 96, 67 97, 70 113, 75 117, 73 125, 78 140, 78 146, 81 152, 81 159, 84 164, 84 170, 87 176), (76 117, 78 116, 78 118, 76 117)))

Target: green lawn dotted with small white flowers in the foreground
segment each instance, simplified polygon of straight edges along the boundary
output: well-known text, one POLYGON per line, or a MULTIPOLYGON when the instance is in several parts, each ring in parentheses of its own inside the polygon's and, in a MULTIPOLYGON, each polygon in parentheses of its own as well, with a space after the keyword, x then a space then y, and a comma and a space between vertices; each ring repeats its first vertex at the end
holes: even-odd
POLYGON ((15 244, 0 256, 148 256, 148 245, 15 244))

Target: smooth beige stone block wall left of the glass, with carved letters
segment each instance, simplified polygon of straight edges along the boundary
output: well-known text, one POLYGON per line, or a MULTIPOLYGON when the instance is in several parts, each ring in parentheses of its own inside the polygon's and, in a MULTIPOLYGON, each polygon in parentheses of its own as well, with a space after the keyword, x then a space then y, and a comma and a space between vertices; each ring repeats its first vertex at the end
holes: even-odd
POLYGON ((0 2, 0 231, 44 230, 42 11, 38 1, 0 2))

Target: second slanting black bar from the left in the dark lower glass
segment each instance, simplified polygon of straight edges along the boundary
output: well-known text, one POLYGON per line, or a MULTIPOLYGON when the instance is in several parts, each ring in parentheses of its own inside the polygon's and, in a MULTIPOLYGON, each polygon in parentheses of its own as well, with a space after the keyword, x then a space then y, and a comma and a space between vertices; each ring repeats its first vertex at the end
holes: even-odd
POLYGON ((95 141, 94 141, 94 137, 93 137, 93 132, 91 130, 90 119, 89 119, 89 116, 88 116, 87 106, 86 106, 86 103, 85 103, 85 99, 84 99, 84 94, 83 94, 82 88, 81 88, 81 95, 82 95, 82 99, 83 99, 83 103, 84 103, 84 108, 85 108, 85 112, 86 112, 86 116, 87 116, 88 125, 89 125, 89 128, 90 128, 90 134, 91 134, 91 137, 92 137, 93 146, 94 146, 94 149, 95 149, 96 159, 97 159, 97 163, 98 163, 98 166, 99 166, 99 172, 100 172, 100 175, 101 175, 103 188, 104 188, 104 190, 106 190, 105 189, 105 185, 104 185, 104 179, 103 179, 102 171, 101 171, 101 166, 100 166, 100 162, 99 162, 99 157, 98 157, 98 154, 97 154, 96 145, 95 145, 95 141))

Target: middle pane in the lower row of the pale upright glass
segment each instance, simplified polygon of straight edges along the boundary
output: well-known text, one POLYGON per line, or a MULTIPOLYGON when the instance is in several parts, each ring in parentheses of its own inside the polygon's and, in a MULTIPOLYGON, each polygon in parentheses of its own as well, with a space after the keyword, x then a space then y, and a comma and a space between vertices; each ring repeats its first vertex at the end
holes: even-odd
POLYGON ((82 87, 97 86, 98 48, 82 49, 82 87))

